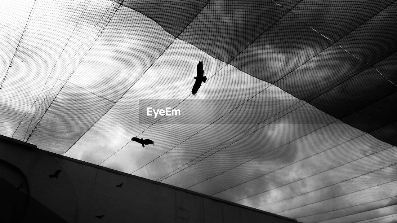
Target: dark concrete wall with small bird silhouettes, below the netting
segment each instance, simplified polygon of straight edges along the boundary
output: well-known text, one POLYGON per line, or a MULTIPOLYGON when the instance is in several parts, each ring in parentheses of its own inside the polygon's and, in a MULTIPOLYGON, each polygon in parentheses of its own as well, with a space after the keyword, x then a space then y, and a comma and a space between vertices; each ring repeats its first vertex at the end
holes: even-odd
POLYGON ((296 222, 1 135, 0 186, 2 222, 296 222), (56 170, 58 178, 50 178, 56 170))

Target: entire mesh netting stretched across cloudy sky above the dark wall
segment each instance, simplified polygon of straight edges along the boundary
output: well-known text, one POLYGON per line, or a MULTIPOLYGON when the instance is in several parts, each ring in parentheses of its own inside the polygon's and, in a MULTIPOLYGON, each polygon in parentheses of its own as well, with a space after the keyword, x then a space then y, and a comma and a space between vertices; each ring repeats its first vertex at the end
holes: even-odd
POLYGON ((395 0, 4 2, 0 134, 304 223, 397 220, 395 0))

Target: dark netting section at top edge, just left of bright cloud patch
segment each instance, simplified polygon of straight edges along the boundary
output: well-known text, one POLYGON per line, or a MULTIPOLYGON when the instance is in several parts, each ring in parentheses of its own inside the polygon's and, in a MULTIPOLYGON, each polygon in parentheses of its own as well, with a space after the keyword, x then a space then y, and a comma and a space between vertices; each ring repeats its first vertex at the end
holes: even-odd
POLYGON ((178 38, 230 62, 287 12, 271 1, 210 1, 178 38))

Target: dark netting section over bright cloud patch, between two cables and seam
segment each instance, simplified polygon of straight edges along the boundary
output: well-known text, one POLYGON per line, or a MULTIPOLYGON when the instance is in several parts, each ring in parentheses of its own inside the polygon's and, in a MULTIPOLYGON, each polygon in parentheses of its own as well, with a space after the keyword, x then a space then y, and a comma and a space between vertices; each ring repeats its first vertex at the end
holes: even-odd
POLYGON ((332 43, 289 12, 230 64, 261 80, 276 83, 332 43))

